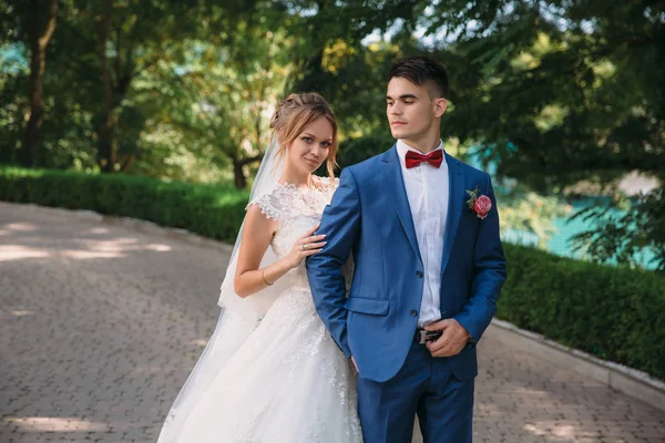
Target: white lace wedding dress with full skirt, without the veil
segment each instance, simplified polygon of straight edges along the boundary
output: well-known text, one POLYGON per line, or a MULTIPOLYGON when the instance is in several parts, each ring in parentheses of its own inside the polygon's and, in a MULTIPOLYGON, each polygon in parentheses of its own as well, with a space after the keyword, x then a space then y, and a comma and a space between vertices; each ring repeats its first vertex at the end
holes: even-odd
MULTIPOLYGON (((320 183, 306 190, 278 184, 250 203, 278 223, 272 243, 278 257, 320 220, 337 186, 320 183)), ((202 358, 202 375, 187 381, 198 383, 197 394, 171 410, 158 443, 362 441, 355 370, 315 310, 305 261, 278 284, 284 290, 248 338, 226 340, 226 349, 208 344, 212 362, 202 358)), ((233 312, 224 316, 222 328, 242 328, 233 312)))

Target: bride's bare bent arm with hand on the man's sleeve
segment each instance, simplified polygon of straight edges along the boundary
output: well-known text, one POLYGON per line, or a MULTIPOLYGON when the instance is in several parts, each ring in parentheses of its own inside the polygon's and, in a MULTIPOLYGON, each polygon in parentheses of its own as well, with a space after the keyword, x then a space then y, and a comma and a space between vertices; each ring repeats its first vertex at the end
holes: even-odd
POLYGON ((234 278, 235 292, 245 298, 265 289, 297 267, 305 257, 321 250, 325 235, 313 236, 318 226, 296 240, 290 254, 270 266, 259 268, 260 261, 270 246, 277 230, 277 222, 266 217, 258 205, 250 205, 245 216, 243 239, 238 251, 238 265, 234 278), (303 249, 307 244, 308 248, 303 249))

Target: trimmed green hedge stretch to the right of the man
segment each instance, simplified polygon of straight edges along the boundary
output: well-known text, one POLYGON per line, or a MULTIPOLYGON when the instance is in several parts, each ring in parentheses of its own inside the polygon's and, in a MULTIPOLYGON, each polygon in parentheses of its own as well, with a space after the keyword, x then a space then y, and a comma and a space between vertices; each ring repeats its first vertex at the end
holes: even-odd
POLYGON ((665 276, 505 245, 498 317, 665 379, 665 276))

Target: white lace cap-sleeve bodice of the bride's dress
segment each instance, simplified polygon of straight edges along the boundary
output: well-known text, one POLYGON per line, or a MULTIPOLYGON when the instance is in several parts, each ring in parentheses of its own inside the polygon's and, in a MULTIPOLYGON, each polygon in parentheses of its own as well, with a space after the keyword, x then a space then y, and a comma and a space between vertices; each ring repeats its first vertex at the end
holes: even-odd
MULTIPOLYGON (((321 219, 326 205, 330 203, 339 179, 319 177, 316 188, 299 188, 291 184, 276 184, 270 192, 249 202, 248 207, 258 205, 260 210, 278 224, 270 244, 277 257, 287 256, 294 243, 321 219)), ((305 260, 291 269, 288 276, 296 287, 308 288, 305 260)))

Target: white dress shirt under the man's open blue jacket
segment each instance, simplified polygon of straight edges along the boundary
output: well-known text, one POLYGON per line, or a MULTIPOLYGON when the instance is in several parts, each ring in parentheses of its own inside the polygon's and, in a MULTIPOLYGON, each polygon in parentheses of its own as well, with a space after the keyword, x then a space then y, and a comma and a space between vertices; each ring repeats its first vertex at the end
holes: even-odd
MULTIPOLYGON (((441 142, 437 150, 443 150, 441 142)), ((422 302, 418 317, 418 326, 422 327, 441 319, 441 258, 448 217, 448 164, 443 157, 439 168, 422 162, 419 166, 407 169, 405 156, 408 151, 422 154, 398 140, 397 153, 416 228, 418 248, 424 267, 422 302)))

